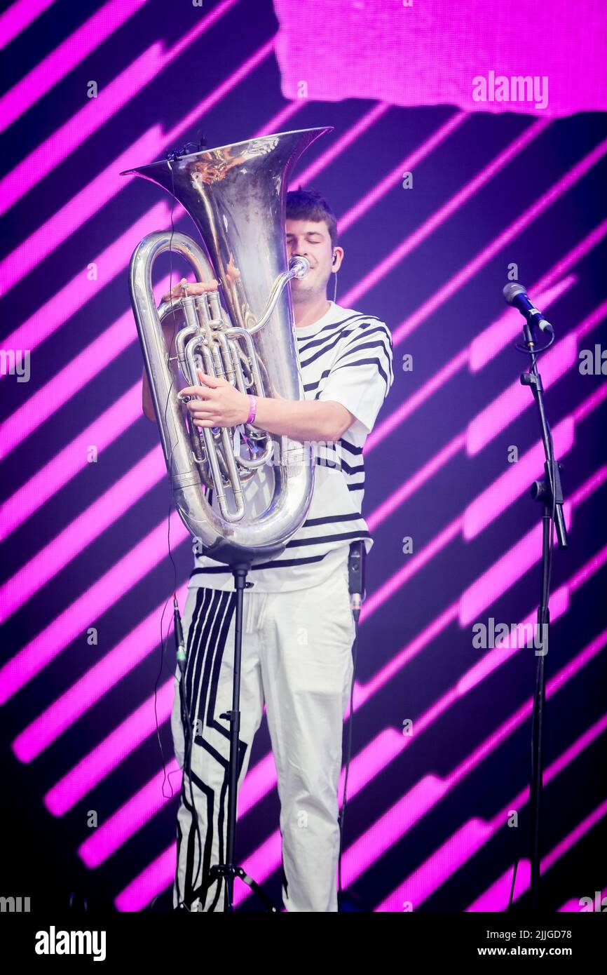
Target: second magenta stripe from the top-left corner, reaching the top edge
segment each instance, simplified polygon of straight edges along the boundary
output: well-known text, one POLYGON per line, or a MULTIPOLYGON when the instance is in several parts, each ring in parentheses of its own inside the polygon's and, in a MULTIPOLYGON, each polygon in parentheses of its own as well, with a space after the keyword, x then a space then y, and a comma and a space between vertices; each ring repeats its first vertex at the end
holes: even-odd
MULTIPOLYGON (((0 98, 0 132, 8 129, 19 115, 31 108, 36 101, 57 85, 61 78, 88 58, 118 27, 133 17, 144 3, 147 3, 147 0, 110 0, 69 37, 66 37, 55 51, 39 61, 17 85, 0 98)), ((27 6, 35 7, 36 4, 28 3, 27 6)), ((44 8, 49 5, 44 3, 40 6, 44 8)))

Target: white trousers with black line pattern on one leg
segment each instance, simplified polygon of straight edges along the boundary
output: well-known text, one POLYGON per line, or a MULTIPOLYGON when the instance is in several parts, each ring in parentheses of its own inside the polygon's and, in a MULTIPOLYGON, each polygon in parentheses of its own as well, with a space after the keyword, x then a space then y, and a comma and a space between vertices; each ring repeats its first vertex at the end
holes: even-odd
MULTIPOLYGON (((252 576, 254 578, 254 576, 252 576)), ((177 813, 177 871, 173 907, 190 902, 210 866, 225 858, 236 594, 191 589, 183 612, 187 665, 183 678, 192 744, 177 813), (203 846, 202 870, 196 818, 203 846)), ((253 735, 266 704, 281 800, 283 901, 286 911, 337 911, 339 853, 337 790, 343 718, 353 675, 355 624, 347 564, 320 586, 287 593, 245 590, 241 673, 239 789, 253 735)), ((184 736, 175 671, 171 730, 183 768, 184 736)), ((238 837, 242 838, 243 825, 238 837)), ((239 860, 237 841, 236 861, 239 860)), ((244 866, 246 866, 244 864, 244 866)), ((259 880, 259 878, 254 878, 259 880)), ((235 880, 235 891, 242 884, 235 880)), ((193 910, 222 911, 224 881, 214 883, 193 910)))

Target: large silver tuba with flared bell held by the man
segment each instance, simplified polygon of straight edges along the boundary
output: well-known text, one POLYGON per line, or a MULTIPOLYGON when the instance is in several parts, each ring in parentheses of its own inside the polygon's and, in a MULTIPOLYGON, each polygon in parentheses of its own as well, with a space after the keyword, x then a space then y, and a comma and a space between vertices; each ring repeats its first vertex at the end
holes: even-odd
POLYGON ((285 191, 301 153, 329 131, 306 129, 172 153, 121 173, 168 190, 202 237, 203 247, 176 231, 148 234, 131 258, 130 291, 175 508, 205 554, 226 565, 254 565, 285 550, 312 502, 315 459, 303 445, 296 449, 289 442, 285 451, 277 437, 248 424, 201 431, 178 394, 199 384, 202 369, 257 397, 303 399, 285 286, 305 277, 309 264, 293 257, 287 266, 285 191), (219 289, 188 296, 184 288, 183 298, 157 308, 152 269, 166 251, 181 254, 197 281, 215 278, 219 289), (172 325, 174 355, 165 342, 165 324, 172 325), (244 488, 269 470, 272 497, 253 516, 244 488), (218 510, 211 507, 209 489, 218 510))

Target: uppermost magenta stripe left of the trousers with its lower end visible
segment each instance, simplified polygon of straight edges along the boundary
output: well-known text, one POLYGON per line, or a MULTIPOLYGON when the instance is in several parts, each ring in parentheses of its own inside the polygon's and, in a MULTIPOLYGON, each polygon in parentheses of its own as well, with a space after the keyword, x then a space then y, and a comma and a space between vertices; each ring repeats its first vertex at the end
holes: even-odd
MULTIPOLYGON (((186 597, 187 583, 182 583, 177 590, 177 600, 182 611, 186 597)), ((108 690, 127 677, 146 656, 158 648, 163 610, 163 636, 167 639, 172 634, 171 603, 161 603, 76 683, 63 691, 56 701, 23 728, 13 741, 13 751, 19 761, 37 759, 71 724, 94 707, 108 690)))

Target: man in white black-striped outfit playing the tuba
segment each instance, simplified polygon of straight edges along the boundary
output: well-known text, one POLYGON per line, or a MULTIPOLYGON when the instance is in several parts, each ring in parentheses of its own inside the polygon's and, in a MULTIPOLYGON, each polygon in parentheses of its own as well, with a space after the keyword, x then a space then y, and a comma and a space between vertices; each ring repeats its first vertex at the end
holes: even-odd
MULTIPOLYGON (((337 790, 355 636, 348 555, 356 539, 364 539, 367 553, 372 545, 360 514, 362 446, 394 381, 386 325, 327 300, 327 284, 344 256, 336 239, 335 216, 318 193, 299 189, 287 194, 288 256, 303 255, 310 262, 308 275, 290 283, 304 401, 257 398, 251 406, 250 398, 226 380, 203 372, 200 386, 182 390, 182 395, 197 397, 187 409, 200 427, 252 422, 279 439, 318 445, 306 521, 279 558, 251 567, 247 579, 252 586, 244 592, 239 790, 265 703, 281 800, 288 912, 337 911, 337 790)), ((192 284, 188 292, 214 288, 216 282, 192 284)), ((181 296, 181 287, 171 294, 181 296)), ((143 405, 153 419, 145 379, 143 405)), ((261 514, 267 507, 270 477, 247 484, 247 512, 261 514)), ((214 910, 220 887, 225 890, 222 880, 206 898, 192 898, 210 866, 225 856, 230 726, 219 716, 232 704, 234 610, 230 568, 198 555, 183 612, 187 665, 181 689, 194 731, 189 756, 178 669, 171 716, 175 755, 181 767, 185 764, 175 908, 214 910)))

